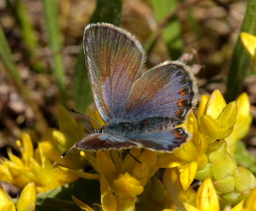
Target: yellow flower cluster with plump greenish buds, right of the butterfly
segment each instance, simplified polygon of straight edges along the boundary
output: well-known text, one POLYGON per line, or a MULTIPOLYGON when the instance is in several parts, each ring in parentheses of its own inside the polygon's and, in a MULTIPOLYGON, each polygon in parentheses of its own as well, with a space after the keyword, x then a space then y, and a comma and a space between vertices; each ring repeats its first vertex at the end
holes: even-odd
MULTIPOLYGON (((182 188, 178 189, 178 194, 181 202, 189 203, 189 199, 181 197, 188 193, 190 197, 195 197, 189 186, 194 179, 211 177, 224 204, 241 202, 256 187, 252 172, 238 167, 233 158, 237 142, 246 135, 251 122, 246 93, 230 104, 226 104, 219 91, 214 91, 210 97, 202 96, 197 119, 191 113, 184 123, 192 139, 173 155, 163 156, 159 160, 161 167, 176 167, 177 170, 166 169, 165 173, 169 178, 179 177, 182 188)), ((171 193, 172 185, 168 183, 172 183, 172 179, 166 181, 165 187, 171 193)), ((170 207, 176 209, 177 204, 170 200, 170 207)))

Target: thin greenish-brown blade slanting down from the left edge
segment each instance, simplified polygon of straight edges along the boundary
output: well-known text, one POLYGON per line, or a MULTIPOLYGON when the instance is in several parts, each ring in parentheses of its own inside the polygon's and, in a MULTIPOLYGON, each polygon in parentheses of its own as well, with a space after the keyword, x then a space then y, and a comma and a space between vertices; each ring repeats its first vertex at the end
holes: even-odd
POLYGON ((20 91, 20 95, 26 101, 27 104, 31 107, 31 109, 36 114, 38 124, 37 128, 41 132, 45 132, 48 128, 47 122, 42 115, 42 112, 39 110, 37 103, 31 97, 31 93, 26 85, 24 85, 21 77, 20 72, 18 71, 18 67, 12 62, 12 52, 10 50, 10 46, 7 42, 7 39, 4 35, 4 31, 0 26, 0 61, 4 65, 5 70, 7 72, 7 76, 10 77, 10 80, 15 83, 18 90, 20 91))

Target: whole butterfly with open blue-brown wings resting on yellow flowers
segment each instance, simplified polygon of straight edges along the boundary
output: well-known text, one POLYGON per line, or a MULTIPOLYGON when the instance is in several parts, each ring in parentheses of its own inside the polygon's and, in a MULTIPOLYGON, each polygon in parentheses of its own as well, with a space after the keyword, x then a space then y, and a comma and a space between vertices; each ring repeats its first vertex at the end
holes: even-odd
POLYGON ((105 126, 75 148, 170 152, 186 142, 189 134, 177 126, 197 104, 196 80, 188 66, 165 61, 142 73, 142 45, 109 23, 86 26, 83 42, 91 91, 105 126))

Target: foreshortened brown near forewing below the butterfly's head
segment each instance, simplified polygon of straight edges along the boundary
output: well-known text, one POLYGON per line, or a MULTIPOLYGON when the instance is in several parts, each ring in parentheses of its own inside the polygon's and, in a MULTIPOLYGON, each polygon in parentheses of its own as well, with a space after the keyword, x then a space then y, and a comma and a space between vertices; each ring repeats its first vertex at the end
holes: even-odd
POLYGON ((138 142, 133 142, 124 137, 116 137, 111 134, 91 134, 75 144, 78 150, 123 150, 131 147, 143 147, 138 142))

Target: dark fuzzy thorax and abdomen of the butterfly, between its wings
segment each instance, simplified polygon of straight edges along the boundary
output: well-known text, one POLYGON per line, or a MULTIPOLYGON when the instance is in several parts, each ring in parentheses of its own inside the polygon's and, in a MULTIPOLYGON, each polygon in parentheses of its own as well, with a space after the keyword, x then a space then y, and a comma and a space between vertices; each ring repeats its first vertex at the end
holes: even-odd
POLYGON ((150 134, 167 131, 174 128, 178 123, 179 121, 177 120, 163 117, 132 121, 110 121, 103 130, 109 134, 119 134, 123 137, 129 137, 132 134, 150 134))

